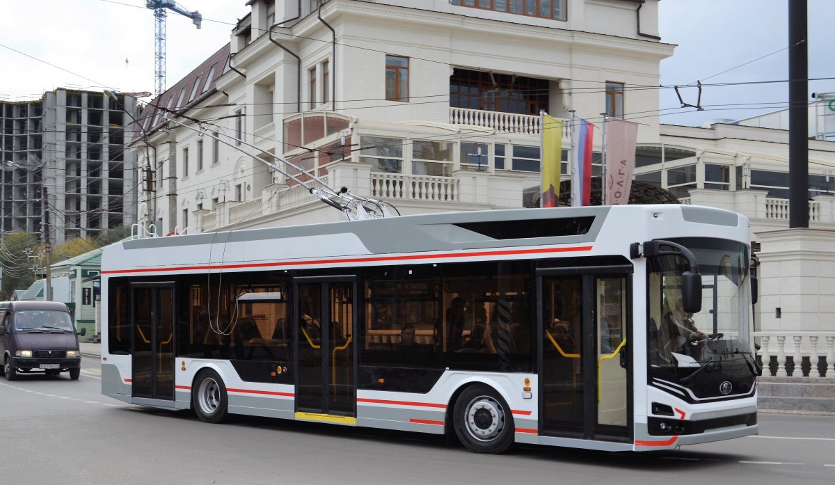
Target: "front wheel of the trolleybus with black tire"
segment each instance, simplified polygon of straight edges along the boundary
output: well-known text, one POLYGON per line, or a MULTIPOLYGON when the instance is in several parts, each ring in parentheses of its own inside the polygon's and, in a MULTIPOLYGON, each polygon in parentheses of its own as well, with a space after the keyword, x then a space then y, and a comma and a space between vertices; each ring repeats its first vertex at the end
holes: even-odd
POLYGON ((507 402, 492 387, 469 386, 453 410, 455 434, 471 452, 498 454, 514 445, 514 417, 507 402))

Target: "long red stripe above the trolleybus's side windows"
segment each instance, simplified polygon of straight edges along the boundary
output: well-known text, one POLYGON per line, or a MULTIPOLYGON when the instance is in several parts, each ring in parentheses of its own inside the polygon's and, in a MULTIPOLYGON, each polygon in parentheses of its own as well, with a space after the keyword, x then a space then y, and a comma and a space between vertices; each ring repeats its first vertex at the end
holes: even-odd
POLYGON ((369 263, 376 261, 403 261, 403 260, 433 260, 444 258, 460 258, 460 257, 475 257, 475 256, 503 256, 503 255, 536 255, 549 253, 565 253, 575 251, 590 251, 592 246, 573 246, 573 247, 559 247, 559 248, 544 248, 535 250, 493 250, 493 251, 476 251, 470 253, 448 253, 448 254, 433 254, 433 255, 402 255, 402 256, 367 256, 357 258, 342 258, 332 260, 305 260, 305 261, 276 261, 272 263, 245 263, 238 265, 200 265, 200 266, 178 266, 175 268, 137 268, 134 270, 103 270, 104 275, 113 275, 116 273, 154 273, 165 271, 193 271, 193 270, 230 270, 237 268, 265 268, 275 266, 298 266, 298 265, 338 265, 345 263, 369 263))

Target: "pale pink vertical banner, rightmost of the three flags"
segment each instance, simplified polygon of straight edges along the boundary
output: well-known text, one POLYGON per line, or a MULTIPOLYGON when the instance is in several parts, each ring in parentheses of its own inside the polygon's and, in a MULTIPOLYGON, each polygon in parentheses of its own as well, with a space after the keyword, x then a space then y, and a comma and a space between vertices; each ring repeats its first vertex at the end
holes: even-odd
POLYGON ((629 204, 638 124, 611 118, 606 126, 606 197, 604 205, 629 204))

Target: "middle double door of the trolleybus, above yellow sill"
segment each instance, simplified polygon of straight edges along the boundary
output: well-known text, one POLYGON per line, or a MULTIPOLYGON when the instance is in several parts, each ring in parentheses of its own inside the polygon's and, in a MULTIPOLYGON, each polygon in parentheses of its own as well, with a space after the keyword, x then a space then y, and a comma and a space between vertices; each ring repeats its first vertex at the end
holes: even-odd
POLYGON ((356 294, 353 277, 296 278, 296 412, 357 416, 356 294))

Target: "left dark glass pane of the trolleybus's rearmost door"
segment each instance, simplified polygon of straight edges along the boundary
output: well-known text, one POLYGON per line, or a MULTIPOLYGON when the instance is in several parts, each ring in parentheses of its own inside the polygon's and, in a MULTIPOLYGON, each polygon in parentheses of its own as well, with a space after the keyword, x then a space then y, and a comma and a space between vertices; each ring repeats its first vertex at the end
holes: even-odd
POLYGON ((152 324, 153 306, 151 304, 150 288, 134 288, 133 320, 134 320, 134 356, 133 356, 133 392, 134 397, 154 397, 154 383, 152 381, 151 366, 154 362, 154 336, 152 324))

